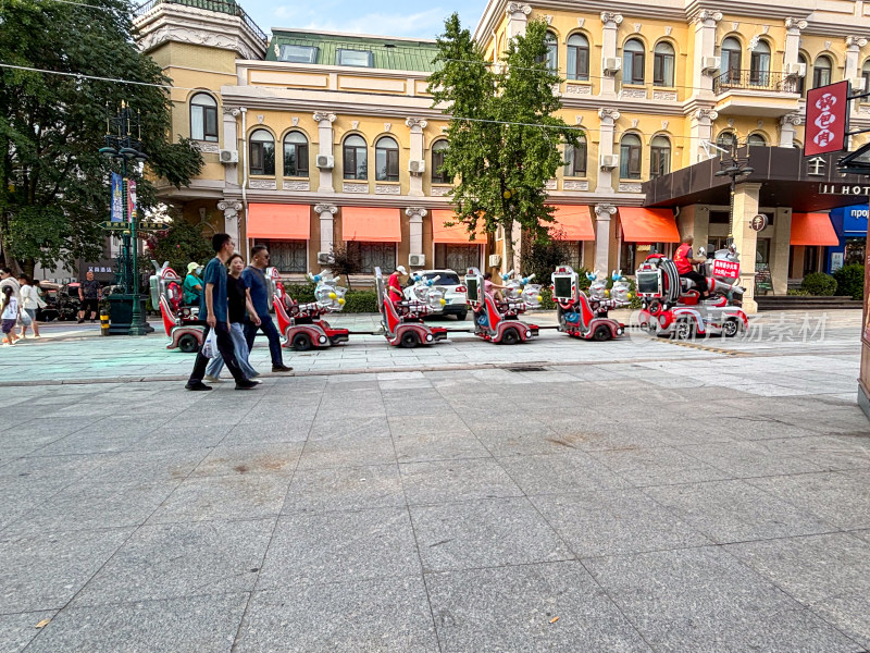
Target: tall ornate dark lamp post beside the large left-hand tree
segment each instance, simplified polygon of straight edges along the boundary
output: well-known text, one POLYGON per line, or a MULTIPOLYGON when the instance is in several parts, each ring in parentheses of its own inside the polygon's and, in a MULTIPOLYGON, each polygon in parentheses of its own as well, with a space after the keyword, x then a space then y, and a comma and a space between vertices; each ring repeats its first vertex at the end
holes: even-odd
POLYGON ((133 312, 130 316, 129 335, 146 335, 151 329, 142 320, 141 299, 139 295, 138 270, 138 241, 136 227, 138 217, 127 215, 129 186, 127 184, 127 163, 144 163, 148 156, 141 151, 141 126, 139 112, 125 103, 121 103, 121 112, 111 115, 109 104, 105 106, 105 147, 100 148, 100 153, 108 159, 121 163, 123 186, 122 215, 123 224, 129 225, 129 231, 124 232, 124 252, 121 282, 126 295, 133 296, 133 312), (136 130, 136 137, 132 135, 136 130), (130 256, 132 249, 132 256, 130 256), (130 269, 130 263, 132 269, 130 269))

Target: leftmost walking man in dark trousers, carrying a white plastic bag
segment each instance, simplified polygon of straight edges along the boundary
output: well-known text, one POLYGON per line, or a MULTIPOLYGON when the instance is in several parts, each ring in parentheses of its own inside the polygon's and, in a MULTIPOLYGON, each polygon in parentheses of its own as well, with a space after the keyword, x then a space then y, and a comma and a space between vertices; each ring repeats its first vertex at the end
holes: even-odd
MULTIPOLYGON (((206 266, 206 272, 202 275, 202 283, 206 286, 202 307, 200 309, 200 319, 206 319, 206 332, 203 333, 202 342, 209 337, 209 332, 214 329, 217 334, 217 350, 226 364, 226 369, 233 374, 236 380, 236 390, 252 390, 257 387, 257 381, 246 379, 245 374, 238 367, 236 355, 233 349, 233 341, 229 337, 229 316, 227 307, 227 291, 226 291, 226 261, 233 256, 236 244, 229 234, 215 234, 211 239, 211 246, 214 249, 214 258, 206 266)), ((194 364, 194 371, 190 373, 190 379, 187 381, 185 387, 187 390, 211 390, 211 386, 202 383, 202 377, 206 374, 206 366, 209 358, 202 355, 200 347, 197 354, 197 361, 194 364)))

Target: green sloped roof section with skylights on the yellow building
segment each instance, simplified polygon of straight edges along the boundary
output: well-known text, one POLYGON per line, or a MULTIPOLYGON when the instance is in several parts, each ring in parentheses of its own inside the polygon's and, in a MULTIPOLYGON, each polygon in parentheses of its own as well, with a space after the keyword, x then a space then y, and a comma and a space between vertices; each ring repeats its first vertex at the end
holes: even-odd
MULTIPOLYGON (((435 41, 273 30, 265 60, 286 61, 286 59, 281 56, 282 46, 316 48, 315 51, 310 51, 313 61, 308 63, 341 65, 338 62, 339 50, 368 51, 371 52, 371 65, 361 65, 360 67, 374 67, 390 71, 420 71, 423 73, 431 73, 435 70, 432 60, 438 52, 438 47, 435 41)), ((297 52, 299 52, 299 50, 297 50, 297 52)), ((294 59, 293 61, 300 62, 299 59, 294 59)))

